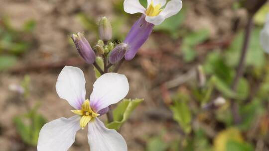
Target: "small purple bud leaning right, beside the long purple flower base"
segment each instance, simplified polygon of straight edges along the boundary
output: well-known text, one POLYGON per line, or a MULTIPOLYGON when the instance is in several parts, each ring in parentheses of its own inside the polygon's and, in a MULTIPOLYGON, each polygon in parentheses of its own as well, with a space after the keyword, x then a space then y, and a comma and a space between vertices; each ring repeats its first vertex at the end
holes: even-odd
POLYGON ((124 58, 127 50, 128 45, 126 43, 120 43, 111 51, 109 56, 109 62, 111 64, 116 64, 117 62, 119 62, 124 58))

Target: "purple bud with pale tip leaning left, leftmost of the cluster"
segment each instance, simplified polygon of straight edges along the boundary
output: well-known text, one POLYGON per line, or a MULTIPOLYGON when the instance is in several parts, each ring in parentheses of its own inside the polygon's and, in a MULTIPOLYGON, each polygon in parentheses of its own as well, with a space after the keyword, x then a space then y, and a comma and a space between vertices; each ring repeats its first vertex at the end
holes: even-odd
POLYGON ((77 34, 72 34, 71 38, 73 39, 80 56, 86 63, 93 64, 95 62, 95 53, 83 34, 78 32, 77 34))

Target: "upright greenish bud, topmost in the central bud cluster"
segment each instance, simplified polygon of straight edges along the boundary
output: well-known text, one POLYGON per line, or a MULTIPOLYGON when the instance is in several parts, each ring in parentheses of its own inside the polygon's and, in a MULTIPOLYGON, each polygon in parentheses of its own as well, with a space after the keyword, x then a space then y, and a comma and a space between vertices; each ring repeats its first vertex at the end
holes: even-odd
POLYGON ((107 17, 103 17, 99 22, 99 36, 104 41, 112 38, 112 27, 107 17))

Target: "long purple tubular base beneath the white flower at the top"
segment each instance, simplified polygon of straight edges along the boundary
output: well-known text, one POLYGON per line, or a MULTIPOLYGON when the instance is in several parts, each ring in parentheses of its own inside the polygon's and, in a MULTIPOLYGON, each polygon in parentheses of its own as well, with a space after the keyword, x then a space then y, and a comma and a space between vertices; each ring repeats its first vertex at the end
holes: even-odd
POLYGON ((128 51, 125 54, 126 60, 132 60, 138 49, 144 44, 153 30, 154 25, 145 20, 142 15, 129 31, 124 43, 128 44, 128 51))

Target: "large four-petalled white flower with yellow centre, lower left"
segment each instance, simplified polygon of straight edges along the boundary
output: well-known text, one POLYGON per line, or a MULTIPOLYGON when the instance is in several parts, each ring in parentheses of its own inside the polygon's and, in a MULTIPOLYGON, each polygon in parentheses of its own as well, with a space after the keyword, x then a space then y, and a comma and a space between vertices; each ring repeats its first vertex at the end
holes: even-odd
POLYGON ((129 83, 126 76, 104 74, 93 86, 89 101, 85 99, 83 72, 76 67, 63 68, 56 83, 56 91, 60 98, 67 100, 76 109, 72 112, 78 115, 45 124, 39 133, 38 151, 67 151, 75 141, 76 132, 87 125, 91 151, 127 151, 124 138, 117 131, 107 129, 97 118, 102 109, 127 95, 129 83))

